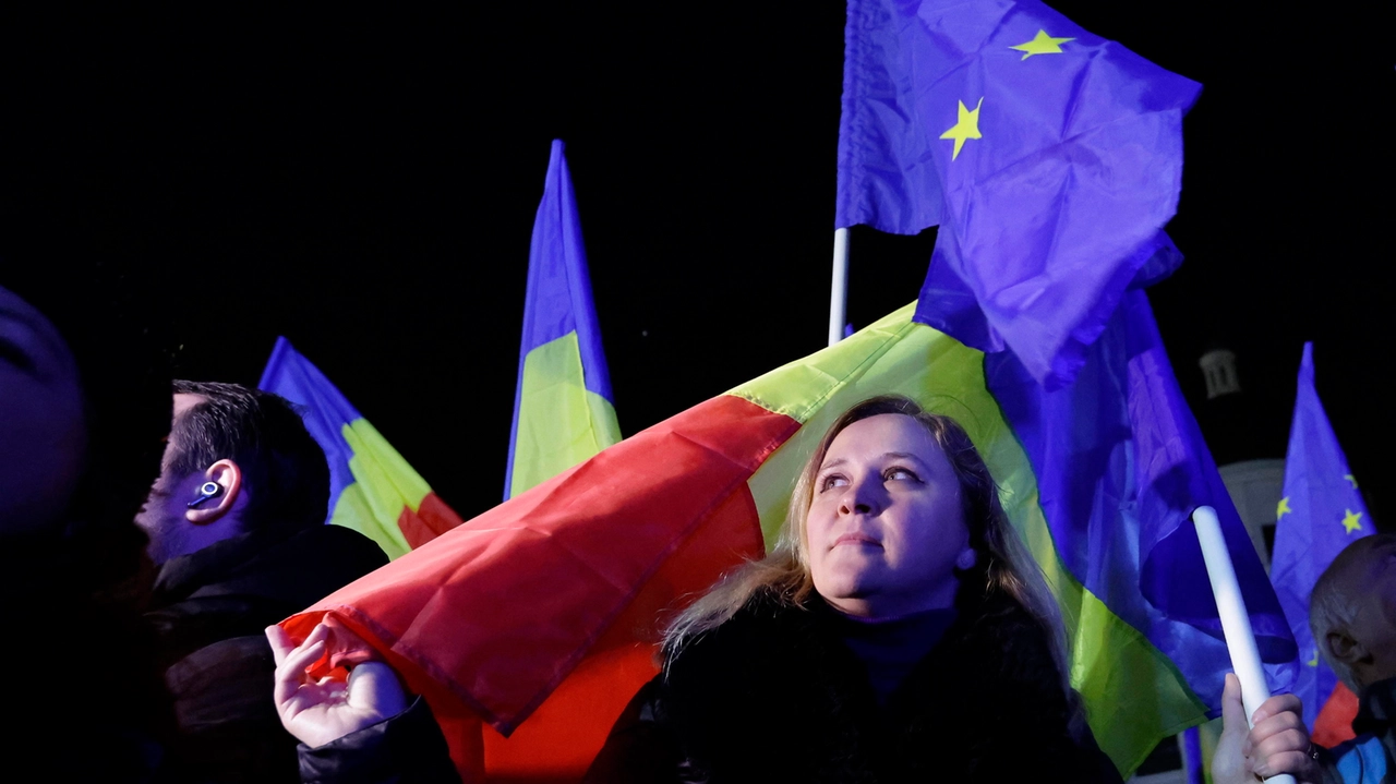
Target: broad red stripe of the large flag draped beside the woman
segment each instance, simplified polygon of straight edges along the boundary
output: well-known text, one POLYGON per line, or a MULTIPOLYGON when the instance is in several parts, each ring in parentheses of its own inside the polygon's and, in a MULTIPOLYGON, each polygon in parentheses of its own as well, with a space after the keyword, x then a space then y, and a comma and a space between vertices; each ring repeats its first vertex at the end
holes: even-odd
MULTIPOLYGON (((578 674, 610 684, 607 713, 616 716, 653 672, 653 618, 761 555, 745 483, 799 428, 744 399, 715 398, 462 523, 285 625, 303 639, 334 614, 384 651, 438 717, 468 723, 475 714, 503 735, 540 706, 547 706, 540 720, 553 718, 540 727, 561 727, 588 695, 606 691, 585 688, 584 678, 575 689, 558 688, 595 656, 596 665, 578 674), (628 526, 624 536, 617 526, 628 526)), ((549 764, 589 760, 582 752, 595 755, 606 730, 581 732, 549 764)), ((479 735, 450 739, 458 762, 479 759, 479 735)), ((519 756, 512 741, 503 744, 490 742, 491 757, 519 756)))

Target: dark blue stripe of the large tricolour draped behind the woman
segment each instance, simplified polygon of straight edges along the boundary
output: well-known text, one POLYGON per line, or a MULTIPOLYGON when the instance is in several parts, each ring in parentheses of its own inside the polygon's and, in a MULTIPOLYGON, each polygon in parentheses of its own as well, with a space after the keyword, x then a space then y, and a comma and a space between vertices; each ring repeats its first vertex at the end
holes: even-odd
POLYGON ((1220 714, 1231 670, 1191 523, 1199 505, 1217 511, 1272 688, 1287 686, 1289 624, 1173 375, 1148 296, 1125 292, 1061 389, 1033 379, 1012 352, 986 354, 984 375, 1037 474, 1062 565, 1173 663, 1205 707, 1195 716, 1220 714))

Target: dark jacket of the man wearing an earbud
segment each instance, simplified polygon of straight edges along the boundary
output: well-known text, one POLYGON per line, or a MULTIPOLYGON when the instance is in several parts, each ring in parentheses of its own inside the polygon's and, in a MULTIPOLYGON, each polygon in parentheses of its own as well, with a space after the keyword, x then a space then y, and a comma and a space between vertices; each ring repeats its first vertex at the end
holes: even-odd
POLYGON ((162 773, 299 781, 264 629, 387 562, 373 540, 342 526, 251 532, 166 562, 147 612, 177 724, 162 773))

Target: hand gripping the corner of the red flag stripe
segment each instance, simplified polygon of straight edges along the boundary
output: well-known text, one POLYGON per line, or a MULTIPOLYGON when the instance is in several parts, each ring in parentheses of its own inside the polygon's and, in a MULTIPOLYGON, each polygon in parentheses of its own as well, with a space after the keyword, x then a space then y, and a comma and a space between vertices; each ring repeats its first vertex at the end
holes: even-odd
POLYGON ((322 746, 408 709, 398 674, 381 661, 356 665, 349 682, 311 681, 306 668, 325 654, 328 638, 329 629, 320 624, 297 646, 281 626, 267 626, 276 660, 276 713, 282 727, 307 746, 322 746))

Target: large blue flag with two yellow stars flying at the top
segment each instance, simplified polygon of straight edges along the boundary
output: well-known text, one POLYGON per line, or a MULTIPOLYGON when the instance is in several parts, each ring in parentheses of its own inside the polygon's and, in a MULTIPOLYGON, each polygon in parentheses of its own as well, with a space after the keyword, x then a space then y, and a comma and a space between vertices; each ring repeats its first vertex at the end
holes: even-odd
POLYGON ((836 225, 940 225, 917 319, 959 303, 960 340, 1062 386, 1125 287, 1181 262, 1199 89, 1036 0, 850 0, 836 225))

